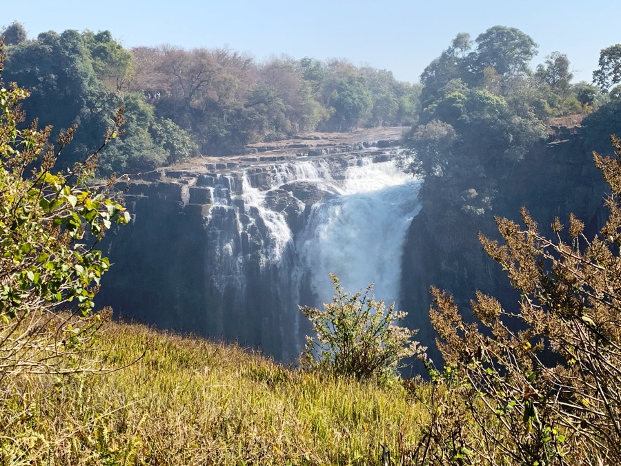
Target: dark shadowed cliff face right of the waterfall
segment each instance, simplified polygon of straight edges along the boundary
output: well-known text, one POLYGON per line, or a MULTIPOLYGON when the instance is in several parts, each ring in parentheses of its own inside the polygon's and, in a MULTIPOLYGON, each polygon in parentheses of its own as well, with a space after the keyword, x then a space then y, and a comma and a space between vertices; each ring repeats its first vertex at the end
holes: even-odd
POLYGON ((494 295, 509 309, 517 307, 519 295, 477 239, 479 231, 499 237, 495 215, 519 222, 520 207, 525 206, 546 235, 551 234, 549 225, 554 217, 569 224, 573 212, 586 224, 586 231, 595 233, 605 215, 606 184, 593 164, 591 151, 580 139, 536 147, 502 174, 496 186, 493 208, 483 215, 439 206, 433 193, 428 193, 408 231, 402 262, 402 308, 408 312, 406 324, 420 329, 417 338, 431 348, 434 360, 439 360, 439 354, 428 318, 431 286, 453 294, 465 315, 470 315, 470 300, 477 289, 494 295))

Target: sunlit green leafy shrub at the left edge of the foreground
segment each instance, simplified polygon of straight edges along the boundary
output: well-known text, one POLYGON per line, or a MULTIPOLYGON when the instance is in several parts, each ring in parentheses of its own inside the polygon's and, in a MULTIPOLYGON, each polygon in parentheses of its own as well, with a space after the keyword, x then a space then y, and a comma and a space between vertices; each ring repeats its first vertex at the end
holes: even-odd
MULTIPOLYGON (((86 184, 98 151, 71 171, 52 172, 75 126, 57 148, 48 145, 49 127, 41 130, 35 121, 20 129, 19 103, 26 97, 14 84, 0 88, 0 380, 84 369, 82 345, 99 321, 87 316, 109 266, 93 246, 112 222, 128 221, 105 189, 86 184), (58 315, 68 309, 85 319, 58 315)), ((122 118, 119 111, 104 145, 117 136, 122 118)))

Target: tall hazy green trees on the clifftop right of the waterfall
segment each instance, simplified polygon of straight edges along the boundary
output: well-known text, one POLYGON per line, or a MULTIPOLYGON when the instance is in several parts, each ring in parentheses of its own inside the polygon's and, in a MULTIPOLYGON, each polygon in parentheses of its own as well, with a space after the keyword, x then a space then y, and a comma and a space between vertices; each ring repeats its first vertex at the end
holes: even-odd
POLYGON ((592 84, 572 84, 561 52, 530 68, 537 48, 524 32, 494 26, 474 40, 458 34, 425 68, 419 119, 406 136, 416 154, 407 168, 426 180, 422 197, 484 214, 512 164, 548 137, 550 119, 588 115, 611 99, 592 84))

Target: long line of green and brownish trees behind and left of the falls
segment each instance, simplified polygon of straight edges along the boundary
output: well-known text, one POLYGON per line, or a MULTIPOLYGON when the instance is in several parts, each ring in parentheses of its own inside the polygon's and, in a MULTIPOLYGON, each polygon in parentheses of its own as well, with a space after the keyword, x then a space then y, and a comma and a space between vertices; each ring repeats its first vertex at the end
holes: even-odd
POLYGON ((108 31, 3 30, 3 79, 30 90, 24 104, 57 133, 79 124, 61 158, 80 160, 124 105, 125 134, 101 154, 101 175, 146 171, 194 155, 227 155, 251 142, 302 131, 411 125, 421 86, 345 60, 272 57, 227 48, 126 50, 108 31))

